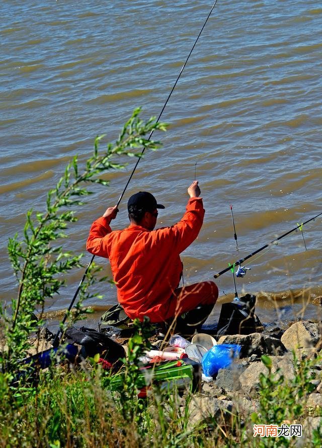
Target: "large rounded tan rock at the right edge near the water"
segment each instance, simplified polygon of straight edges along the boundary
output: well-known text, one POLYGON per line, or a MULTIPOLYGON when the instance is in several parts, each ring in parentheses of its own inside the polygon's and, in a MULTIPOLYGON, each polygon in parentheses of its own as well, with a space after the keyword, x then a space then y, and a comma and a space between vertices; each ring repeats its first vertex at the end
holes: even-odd
POLYGON ((309 321, 295 322, 288 328, 281 341, 288 350, 313 347, 320 339, 319 325, 309 321))

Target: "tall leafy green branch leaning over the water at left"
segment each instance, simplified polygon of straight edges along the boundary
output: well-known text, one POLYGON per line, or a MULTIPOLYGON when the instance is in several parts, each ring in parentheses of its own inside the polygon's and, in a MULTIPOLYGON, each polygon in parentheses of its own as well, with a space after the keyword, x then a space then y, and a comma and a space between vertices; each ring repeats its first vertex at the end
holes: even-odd
MULTIPOLYGON (((139 118, 140 109, 134 110, 123 126, 116 142, 108 143, 104 150, 100 142, 104 135, 96 137, 93 155, 79 166, 77 156, 67 165, 64 175, 55 188, 49 190, 46 210, 27 212, 23 238, 16 234, 9 240, 9 257, 19 288, 17 298, 12 300, 12 315, 1 311, 5 322, 7 352, 3 357, 22 357, 28 348, 27 338, 42 324, 33 314, 43 309, 45 300, 57 294, 65 284, 65 275, 74 268, 82 267, 82 254, 71 254, 63 249, 61 240, 67 237, 66 229, 77 220, 76 206, 82 206, 84 199, 92 193, 93 184, 109 185, 109 180, 101 174, 108 170, 120 169, 124 164, 115 161, 122 156, 140 157, 140 150, 146 147, 155 150, 159 142, 150 140, 148 135, 155 129, 166 130, 166 124, 156 123, 152 117, 143 122, 139 118)), ((82 296, 88 297, 87 287, 93 283, 98 273, 93 265, 87 282, 82 287, 82 296)), ((82 298, 81 296, 81 298, 82 298)), ((80 314, 82 300, 78 305, 80 314)))

